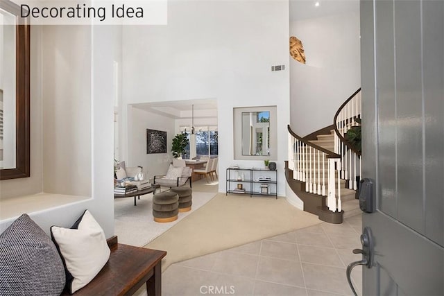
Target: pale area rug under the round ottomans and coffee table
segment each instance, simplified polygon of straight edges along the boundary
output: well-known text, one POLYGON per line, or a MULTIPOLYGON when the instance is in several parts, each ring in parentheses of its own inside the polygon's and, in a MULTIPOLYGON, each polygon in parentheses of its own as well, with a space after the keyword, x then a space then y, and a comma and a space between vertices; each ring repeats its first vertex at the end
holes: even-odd
POLYGON ((202 207, 215 195, 216 193, 193 191, 191 211, 179 213, 178 220, 170 223, 157 223, 153 220, 152 193, 142 195, 140 200, 137 200, 137 206, 134 205, 134 198, 116 198, 114 199, 114 233, 119 237, 119 243, 142 247, 202 207))

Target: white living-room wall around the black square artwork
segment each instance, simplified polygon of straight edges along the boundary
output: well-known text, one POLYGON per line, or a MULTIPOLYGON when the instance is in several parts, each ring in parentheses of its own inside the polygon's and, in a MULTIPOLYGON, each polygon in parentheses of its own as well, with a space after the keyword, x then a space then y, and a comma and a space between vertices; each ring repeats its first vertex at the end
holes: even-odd
POLYGON ((165 116, 147 112, 136 107, 128 109, 128 150, 131 151, 127 166, 142 166, 146 177, 164 175, 173 159, 171 141, 176 135, 174 120, 165 116), (146 129, 167 132, 167 153, 146 154, 146 129))

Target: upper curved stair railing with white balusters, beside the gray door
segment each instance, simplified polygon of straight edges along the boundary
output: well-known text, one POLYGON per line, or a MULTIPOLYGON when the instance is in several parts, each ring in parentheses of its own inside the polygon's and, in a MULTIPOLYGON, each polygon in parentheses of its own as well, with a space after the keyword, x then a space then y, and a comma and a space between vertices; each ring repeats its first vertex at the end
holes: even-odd
POLYGON ((354 126, 361 125, 361 89, 348 98, 334 116, 334 152, 341 155, 341 179, 349 189, 357 190, 357 177, 361 176, 361 151, 347 140, 346 134, 354 126))

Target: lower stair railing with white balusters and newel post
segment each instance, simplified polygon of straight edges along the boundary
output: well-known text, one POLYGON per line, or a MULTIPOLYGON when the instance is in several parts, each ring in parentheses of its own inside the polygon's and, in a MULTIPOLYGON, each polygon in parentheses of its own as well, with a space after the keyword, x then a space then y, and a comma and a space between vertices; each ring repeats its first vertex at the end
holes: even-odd
POLYGON ((293 179, 305 182, 305 191, 326 196, 330 211, 341 211, 341 155, 302 139, 290 126, 288 130, 288 167, 293 171, 293 179))

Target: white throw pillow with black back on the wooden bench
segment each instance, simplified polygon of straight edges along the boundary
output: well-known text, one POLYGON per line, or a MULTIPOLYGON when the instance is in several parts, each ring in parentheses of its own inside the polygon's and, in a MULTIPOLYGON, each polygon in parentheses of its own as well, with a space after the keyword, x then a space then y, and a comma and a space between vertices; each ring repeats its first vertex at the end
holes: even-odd
POLYGON ((103 229, 88 210, 71 228, 52 226, 51 236, 65 263, 71 294, 92 281, 110 258, 103 229))

